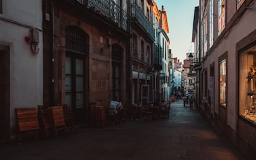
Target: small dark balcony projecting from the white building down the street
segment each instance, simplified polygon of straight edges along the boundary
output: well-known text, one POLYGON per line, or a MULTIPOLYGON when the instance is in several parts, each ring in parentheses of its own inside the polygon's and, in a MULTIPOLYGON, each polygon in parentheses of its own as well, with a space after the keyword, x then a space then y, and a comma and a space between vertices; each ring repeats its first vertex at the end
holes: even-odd
POLYGON ((153 52, 154 70, 163 70, 162 61, 162 47, 159 44, 155 44, 153 52))

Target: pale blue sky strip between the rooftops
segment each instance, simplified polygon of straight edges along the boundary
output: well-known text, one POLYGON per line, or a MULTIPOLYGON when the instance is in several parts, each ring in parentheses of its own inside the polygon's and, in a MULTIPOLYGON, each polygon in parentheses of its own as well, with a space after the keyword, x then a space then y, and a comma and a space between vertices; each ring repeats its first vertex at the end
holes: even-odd
POLYGON ((186 59, 187 52, 194 52, 192 41, 192 28, 194 10, 199 6, 199 0, 155 0, 157 7, 167 13, 170 40, 170 49, 173 57, 180 61, 186 59))

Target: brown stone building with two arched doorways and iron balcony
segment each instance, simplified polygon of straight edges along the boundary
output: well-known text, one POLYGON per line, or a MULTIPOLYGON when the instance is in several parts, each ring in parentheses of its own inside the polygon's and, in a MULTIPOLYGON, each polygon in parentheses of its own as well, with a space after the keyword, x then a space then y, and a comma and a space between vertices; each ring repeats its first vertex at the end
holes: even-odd
POLYGON ((83 123, 91 102, 129 104, 129 1, 43 2, 44 105, 68 104, 83 123))

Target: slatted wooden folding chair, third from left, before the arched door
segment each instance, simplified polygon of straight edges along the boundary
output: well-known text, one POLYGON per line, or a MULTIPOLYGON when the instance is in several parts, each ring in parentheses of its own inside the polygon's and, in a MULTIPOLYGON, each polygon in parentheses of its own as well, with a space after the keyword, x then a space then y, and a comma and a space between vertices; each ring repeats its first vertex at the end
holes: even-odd
POLYGON ((67 132, 62 106, 48 107, 47 113, 51 118, 52 132, 55 137, 58 137, 58 131, 67 132))

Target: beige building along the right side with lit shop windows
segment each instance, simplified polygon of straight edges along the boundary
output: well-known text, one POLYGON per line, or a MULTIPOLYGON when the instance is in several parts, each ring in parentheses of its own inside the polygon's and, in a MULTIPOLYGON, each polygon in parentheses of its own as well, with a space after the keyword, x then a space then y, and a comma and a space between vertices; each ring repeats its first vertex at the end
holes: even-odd
POLYGON ((201 0, 193 28, 200 112, 248 159, 256 150, 255 7, 250 0, 201 0))

